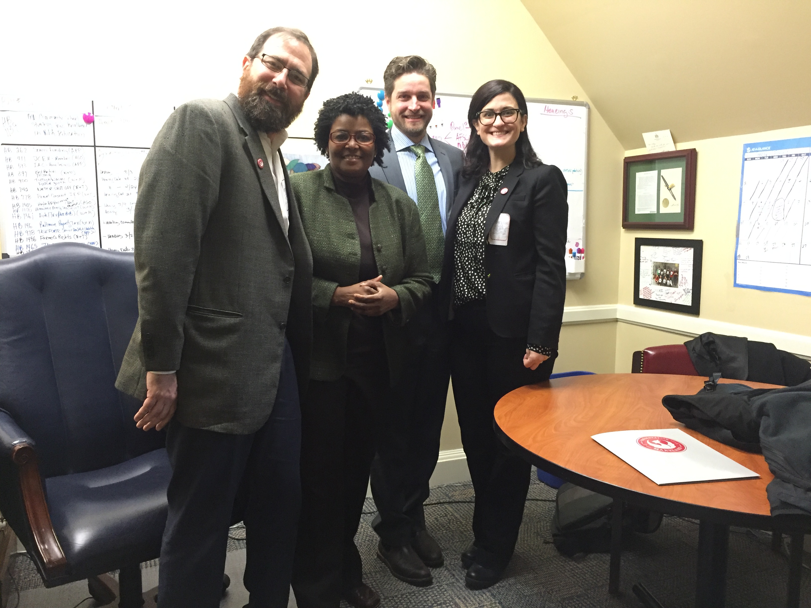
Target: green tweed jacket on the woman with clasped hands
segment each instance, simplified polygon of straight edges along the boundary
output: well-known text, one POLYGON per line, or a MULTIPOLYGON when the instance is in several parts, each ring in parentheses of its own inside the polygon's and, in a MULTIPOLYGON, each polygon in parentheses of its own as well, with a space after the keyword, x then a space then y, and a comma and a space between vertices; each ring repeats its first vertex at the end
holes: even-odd
MULTIPOLYGON (((352 311, 330 306, 330 302, 336 287, 358 282, 358 229, 349 201, 335 191, 329 165, 320 171, 296 173, 290 182, 313 258, 310 378, 337 380, 345 372, 352 311)), ((400 298, 400 306, 383 319, 389 377, 394 383, 409 356, 405 324, 431 297, 432 280, 417 205, 385 182, 372 179, 371 185, 374 200, 369 206, 369 228, 375 262, 383 283, 400 298)))

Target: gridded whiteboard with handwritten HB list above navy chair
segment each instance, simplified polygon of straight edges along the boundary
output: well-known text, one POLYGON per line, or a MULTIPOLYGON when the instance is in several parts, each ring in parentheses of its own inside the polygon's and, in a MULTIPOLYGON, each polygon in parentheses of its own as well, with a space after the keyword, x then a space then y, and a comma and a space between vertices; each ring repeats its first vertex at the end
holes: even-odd
POLYGON ((0 96, 3 253, 64 241, 134 250, 140 167, 173 110, 0 96))

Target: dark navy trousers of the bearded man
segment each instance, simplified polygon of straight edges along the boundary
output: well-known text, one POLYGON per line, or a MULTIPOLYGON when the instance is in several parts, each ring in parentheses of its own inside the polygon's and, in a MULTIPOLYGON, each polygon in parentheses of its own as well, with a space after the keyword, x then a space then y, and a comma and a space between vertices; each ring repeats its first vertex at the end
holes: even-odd
POLYGON ((301 503, 301 412, 285 340, 279 388, 264 426, 228 435, 169 423, 169 516, 158 573, 160 608, 216 608, 229 526, 247 531, 245 588, 251 606, 285 608, 301 503))

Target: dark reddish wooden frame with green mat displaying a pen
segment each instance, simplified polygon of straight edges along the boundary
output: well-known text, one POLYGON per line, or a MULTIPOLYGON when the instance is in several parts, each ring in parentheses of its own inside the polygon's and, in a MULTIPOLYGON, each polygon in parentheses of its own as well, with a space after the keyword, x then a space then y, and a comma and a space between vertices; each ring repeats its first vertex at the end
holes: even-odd
POLYGON ((692 230, 696 209, 696 159, 695 148, 626 156, 622 172, 622 227, 662 230, 692 230), (680 212, 663 213, 659 206, 664 190, 662 169, 681 169, 682 193, 680 212), (637 213, 637 173, 656 171, 656 208, 654 213, 637 213))

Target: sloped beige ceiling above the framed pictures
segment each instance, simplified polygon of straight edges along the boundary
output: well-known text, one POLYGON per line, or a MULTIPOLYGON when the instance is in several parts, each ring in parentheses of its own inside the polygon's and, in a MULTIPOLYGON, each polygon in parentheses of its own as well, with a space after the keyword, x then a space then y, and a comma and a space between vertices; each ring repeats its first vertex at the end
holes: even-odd
POLYGON ((521 0, 625 149, 811 125, 811 0, 521 0))

